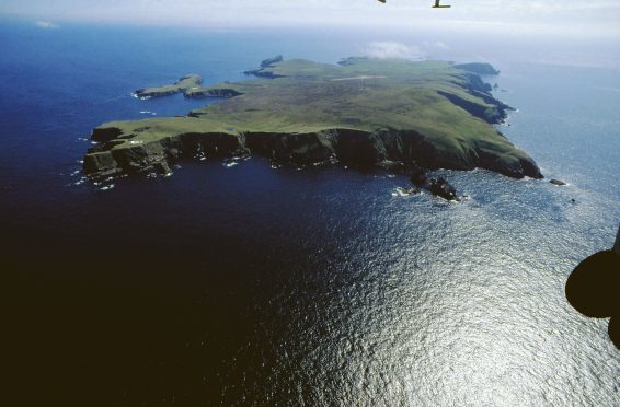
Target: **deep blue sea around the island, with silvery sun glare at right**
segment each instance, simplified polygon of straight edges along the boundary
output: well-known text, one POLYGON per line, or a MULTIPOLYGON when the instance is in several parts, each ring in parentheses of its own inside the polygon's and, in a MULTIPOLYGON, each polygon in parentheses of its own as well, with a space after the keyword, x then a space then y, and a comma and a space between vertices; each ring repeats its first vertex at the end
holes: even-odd
POLYGON ((564 296, 620 220, 617 70, 493 61, 502 132, 566 187, 439 171, 456 205, 259 158, 82 182, 93 127, 206 103, 131 91, 369 40, 331 34, 2 22, 11 405, 620 404, 608 321, 564 296))

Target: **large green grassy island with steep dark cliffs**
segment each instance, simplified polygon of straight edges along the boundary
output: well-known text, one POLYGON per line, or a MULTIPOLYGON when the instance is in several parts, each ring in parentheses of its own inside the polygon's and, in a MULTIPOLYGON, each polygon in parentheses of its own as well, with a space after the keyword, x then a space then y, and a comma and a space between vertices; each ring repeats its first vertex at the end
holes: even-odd
POLYGON ((253 79, 184 91, 220 103, 185 116, 96 127, 91 139, 97 144, 83 171, 90 177, 167 173, 182 159, 255 154, 296 165, 400 171, 448 197, 451 186, 427 178, 427 170, 480 167, 541 178, 533 160, 495 128, 510 107, 493 97, 480 71, 496 72, 444 61, 347 58, 330 65, 278 56, 248 71, 253 79))

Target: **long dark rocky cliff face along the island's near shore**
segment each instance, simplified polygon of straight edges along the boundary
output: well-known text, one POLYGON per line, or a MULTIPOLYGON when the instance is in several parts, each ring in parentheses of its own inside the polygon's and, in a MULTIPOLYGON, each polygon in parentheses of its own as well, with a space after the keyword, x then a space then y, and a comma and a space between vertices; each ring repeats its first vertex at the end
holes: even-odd
MULTIPOLYGON (((93 139, 103 140, 118 128, 99 128, 93 139)), ((84 158, 88 175, 100 177, 122 173, 165 171, 180 159, 197 155, 229 158, 253 153, 280 163, 309 165, 340 162, 353 167, 386 167, 386 162, 425 168, 487 168, 510 177, 542 175, 536 163, 523 155, 496 154, 484 146, 474 146, 458 153, 441 154, 432 142, 416 131, 381 129, 361 131, 328 129, 308 133, 285 132, 187 132, 157 141, 114 149, 113 141, 92 148, 84 158)), ((402 166, 397 166, 402 167, 402 166)))

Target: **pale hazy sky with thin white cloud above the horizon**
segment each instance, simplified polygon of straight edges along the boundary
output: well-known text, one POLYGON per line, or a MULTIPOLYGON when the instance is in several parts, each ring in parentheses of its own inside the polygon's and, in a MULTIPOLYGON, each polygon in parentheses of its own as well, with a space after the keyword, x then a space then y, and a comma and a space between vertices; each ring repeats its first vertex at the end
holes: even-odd
POLYGON ((619 0, 2 0, 0 15, 204 27, 416 27, 508 35, 620 38, 619 0))

